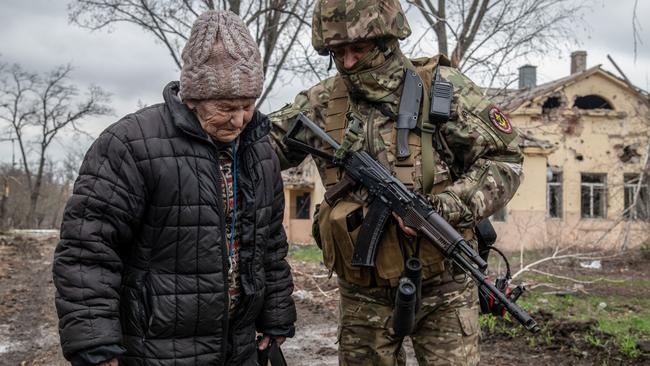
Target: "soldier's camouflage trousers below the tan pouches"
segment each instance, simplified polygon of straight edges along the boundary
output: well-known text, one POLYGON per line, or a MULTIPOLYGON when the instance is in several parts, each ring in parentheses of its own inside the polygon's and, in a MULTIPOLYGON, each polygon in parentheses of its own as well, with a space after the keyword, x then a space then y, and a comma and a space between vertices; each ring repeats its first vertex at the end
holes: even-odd
MULTIPOLYGON (((418 364, 478 364, 476 286, 464 277, 460 283, 426 282, 410 335, 418 364)), ((405 365, 404 338, 394 336, 392 329, 395 289, 360 287, 339 279, 339 290, 339 365, 405 365)))

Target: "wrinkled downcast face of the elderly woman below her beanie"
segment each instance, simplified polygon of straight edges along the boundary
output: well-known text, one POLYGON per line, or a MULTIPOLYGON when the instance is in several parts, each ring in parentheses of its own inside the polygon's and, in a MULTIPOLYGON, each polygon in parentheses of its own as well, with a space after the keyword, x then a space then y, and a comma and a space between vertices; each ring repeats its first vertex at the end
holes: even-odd
POLYGON ((215 99, 187 101, 201 127, 215 140, 231 142, 253 119, 255 99, 215 99))

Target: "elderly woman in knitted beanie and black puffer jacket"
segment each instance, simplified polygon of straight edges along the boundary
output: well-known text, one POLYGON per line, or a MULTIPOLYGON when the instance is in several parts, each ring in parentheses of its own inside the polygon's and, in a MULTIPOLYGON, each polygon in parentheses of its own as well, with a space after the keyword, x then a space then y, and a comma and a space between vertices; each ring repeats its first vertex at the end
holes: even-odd
POLYGON ((256 365, 257 332, 294 334, 257 45, 208 11, 183 62, 164 103, 100 135, 66 207, 53 273, 73 365, 256 365))

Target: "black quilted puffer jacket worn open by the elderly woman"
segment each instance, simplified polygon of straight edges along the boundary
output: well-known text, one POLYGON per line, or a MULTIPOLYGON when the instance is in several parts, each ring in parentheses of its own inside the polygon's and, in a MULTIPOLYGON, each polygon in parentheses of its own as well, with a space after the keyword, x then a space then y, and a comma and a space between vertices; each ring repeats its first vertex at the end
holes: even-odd
POLYGON ((256 112, 240 137, 243 299, 229 319, 217 146, 177 91, 109 127, 83 162, 53 265, 68 359, 121 344, 121 365, 255 365, 256 329, 293 335, 269 121, 256 112))

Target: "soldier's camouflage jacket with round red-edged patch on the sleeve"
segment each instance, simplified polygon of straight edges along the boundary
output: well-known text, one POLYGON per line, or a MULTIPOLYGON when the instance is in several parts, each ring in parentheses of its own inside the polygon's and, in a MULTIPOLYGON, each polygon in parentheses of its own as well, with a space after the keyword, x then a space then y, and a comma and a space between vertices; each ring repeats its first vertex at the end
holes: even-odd
MULTIPOLYGON (((413 60, 416 63, 416 60, 413 60)), ((422 64, 422 60, 420 60, 422 64)), ((452 117, 439 126, 441 139, 451 154, 438 154, 435 181, 443 187, 427 192, 434 208, 458 229, 470 229, 484 217, 504 207, 513 197, 522 179, 523 154, 520 138, 507 117, 486 99, 481 90, 455 68, 440 66, 442 79, 454 86, 452 117), (445 156, 446 155, 446 156, 445 156), (442 158, 441 158, 442 157, 442 158), (449 179, 439 178, 447 175, 449 179)), ((299 112, 326 129, 328 107, 333 99, 335 77, 328 78, 299 93, 288 104, 269 115, 273 122, 272 136, 283 168, 299 164, 304 154, 289 150, 282 137, 299 112)), ((426 78, 423 78, 426 80, 426 78)), ((431 80, 429 77, 428 80, 431 80)), ((393 82, 387 80, 386 82, 393 82)), ((401 93, 401 92, 400 92, 401 93)), ((394 143, 387 141, 394 129, 394 117, 386 110, 397 111, 399 100, 384 103, 355 103, 357 109, 371 120, 366 123, 367 139, 363 148, 394 169, 394 143), (378 148, 379 146, 379 148, 378 148)), ((331 108, 329 113, 331 113, 331 108)), ((314 145, 318 147, 317 141, 314 145)), ((440 151, 438 151, 440 153, 440 151)), ((318 160, 318 159, 316 159, 318 160)), ((417 169, 419 164, 415 164, 417 169)), ((323 167, 321 177, 323 178, 323 167)), ((414 189, 417 190, 417 184, 414 189)), ((421 188, 421 187, 420 187, 421 188)))

